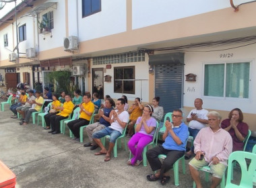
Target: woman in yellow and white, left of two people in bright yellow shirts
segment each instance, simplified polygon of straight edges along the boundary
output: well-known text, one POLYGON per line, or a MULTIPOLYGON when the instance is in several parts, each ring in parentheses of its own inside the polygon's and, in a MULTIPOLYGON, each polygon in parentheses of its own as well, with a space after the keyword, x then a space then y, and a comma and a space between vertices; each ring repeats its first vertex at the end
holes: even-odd
POLYGON ((58 95, 54 94, 51 109, 50 109, 49 113, 46 113, 44 115, 44 121, 45 121, 45 124, 46 124, 46 127, 44 128, 45 130, 49 130, 51 128, 50 118, 53 115, 56 115, 57 113, 59 113, 59 109, 57 109, 57 107, 60 107, 60 106, 61 106, 61 102, 58 100, 58 95))

